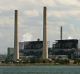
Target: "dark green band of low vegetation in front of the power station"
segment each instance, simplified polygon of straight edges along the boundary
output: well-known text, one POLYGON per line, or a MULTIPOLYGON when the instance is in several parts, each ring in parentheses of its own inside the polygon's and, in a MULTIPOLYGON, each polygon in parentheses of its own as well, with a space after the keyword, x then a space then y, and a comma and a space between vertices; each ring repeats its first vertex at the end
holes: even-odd
MULTIPOLYGON (((11 58, 11 57, 10 57, 11 58)), ((62 59, 62 58, 58 58, 58 59, 39 59, 39 58, 29 58, 29 59, 22 59, 22 60, 17 60, 17 62, 13 61, 12 58, 10 59, 9 57, 7 57, 5 59, 5 61, 2 61, 1 64, 15 64, 15 65, 26 65, 26 64, 58 64, 58 65, 63 65, 63 64, 68 64, 68 65, 71 65, 71 64, 80 64, 80 59, 74 59, 74 62, 73 63, 70 63, 70 60, 69 59, 62 59)))

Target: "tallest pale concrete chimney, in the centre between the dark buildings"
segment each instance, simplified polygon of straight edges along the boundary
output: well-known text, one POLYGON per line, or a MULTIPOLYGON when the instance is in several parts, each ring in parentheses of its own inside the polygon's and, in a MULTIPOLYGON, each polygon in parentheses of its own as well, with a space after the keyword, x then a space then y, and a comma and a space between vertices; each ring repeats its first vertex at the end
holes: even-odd
POLYGON ((47 41, 47 8, 43 9, 43 59, 48 59, 48 41, 47 41))

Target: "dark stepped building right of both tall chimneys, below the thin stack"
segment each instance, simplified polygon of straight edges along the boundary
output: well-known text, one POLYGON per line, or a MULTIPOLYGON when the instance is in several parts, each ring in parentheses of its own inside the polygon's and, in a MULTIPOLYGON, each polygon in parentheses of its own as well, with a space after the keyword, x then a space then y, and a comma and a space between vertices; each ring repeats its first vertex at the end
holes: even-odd
POLYGON ((79 50, 79 40, 77 39, 65 39, 56 40, 52 46, 53 55, 68 55, 71 58, 74 53, 79 50))

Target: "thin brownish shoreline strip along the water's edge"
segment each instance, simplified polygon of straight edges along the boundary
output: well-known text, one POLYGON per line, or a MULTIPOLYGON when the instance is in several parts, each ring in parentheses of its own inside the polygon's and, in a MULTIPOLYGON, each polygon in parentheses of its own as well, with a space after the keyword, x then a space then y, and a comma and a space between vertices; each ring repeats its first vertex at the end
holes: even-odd
POLYGON ((0 66, 80 66, 80 64, 50 64, 50 63, 32 63, 32 64, 0 64, 0 66))

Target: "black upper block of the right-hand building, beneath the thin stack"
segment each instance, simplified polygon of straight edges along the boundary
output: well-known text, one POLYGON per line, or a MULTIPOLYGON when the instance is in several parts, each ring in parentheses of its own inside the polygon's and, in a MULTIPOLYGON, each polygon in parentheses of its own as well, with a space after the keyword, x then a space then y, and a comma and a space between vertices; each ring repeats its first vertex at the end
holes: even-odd
POLYGON ((68 39, 68 40, 56 40, 56 43, 53 44, 53 49, 77 49, 78 40, 77 39, 68 39))

